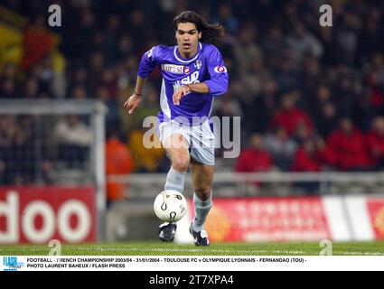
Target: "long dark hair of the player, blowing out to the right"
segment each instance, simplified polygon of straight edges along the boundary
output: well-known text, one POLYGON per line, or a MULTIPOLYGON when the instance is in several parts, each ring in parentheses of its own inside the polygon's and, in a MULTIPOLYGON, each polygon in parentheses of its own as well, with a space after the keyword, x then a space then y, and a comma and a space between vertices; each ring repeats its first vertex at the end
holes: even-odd
POLYGON ((207 23, 201 15, 193 11, 184 11, 173 19, 174 30, 177 31, 179 23, 194 23, 201 33, 201 42, 219 44, 224 37, 224 28, 220 24, 207 23))

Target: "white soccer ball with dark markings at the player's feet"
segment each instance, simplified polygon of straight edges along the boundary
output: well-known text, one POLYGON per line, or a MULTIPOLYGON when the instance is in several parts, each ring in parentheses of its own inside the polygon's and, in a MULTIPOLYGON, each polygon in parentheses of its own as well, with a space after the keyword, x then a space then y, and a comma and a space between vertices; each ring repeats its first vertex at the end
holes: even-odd
POLYGON ((177 222, 187 211, 187 200, 178 191, 162 191, 155 199, 154 210, 159 219, 170 223, 177 222))

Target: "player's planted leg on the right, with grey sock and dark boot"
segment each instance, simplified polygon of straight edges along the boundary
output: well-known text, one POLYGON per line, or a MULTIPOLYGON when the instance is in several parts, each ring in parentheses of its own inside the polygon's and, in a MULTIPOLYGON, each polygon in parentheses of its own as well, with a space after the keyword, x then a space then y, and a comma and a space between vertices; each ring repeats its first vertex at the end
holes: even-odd
POLYGON ((210 241, 203 229, 205 220, 212 207, 212 181, 214 166, 191 160, 192 186, 194 190, 194 218, 190 232, 197 246, 208 246, 210 241))

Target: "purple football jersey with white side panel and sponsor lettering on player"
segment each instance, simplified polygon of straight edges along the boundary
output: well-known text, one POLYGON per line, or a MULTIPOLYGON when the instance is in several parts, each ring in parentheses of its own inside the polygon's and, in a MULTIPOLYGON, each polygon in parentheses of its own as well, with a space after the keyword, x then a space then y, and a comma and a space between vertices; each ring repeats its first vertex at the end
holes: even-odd
POLYGON ((192 124, 194 117, 210 117, 213 97, 227 92, 228 73, 220 51, 212 44, 198 44, 198 51, 191 59, 183 59, 177 46, 155 46, 145 52, 140 61, 138 76, 148 77, 158 67, 162 72, 163 84, 160 93, 162 111, 160 122, 175 117, 185 117, 192 124), (173 92, 183 85, 204 82, 209 94, 188 93, 179 106, 173 105, 173 92))

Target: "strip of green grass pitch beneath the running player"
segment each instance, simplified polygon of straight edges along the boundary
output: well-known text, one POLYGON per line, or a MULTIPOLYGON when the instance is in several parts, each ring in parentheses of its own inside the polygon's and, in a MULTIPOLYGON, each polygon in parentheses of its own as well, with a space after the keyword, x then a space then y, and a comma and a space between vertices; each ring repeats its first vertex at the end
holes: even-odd
MULTIPOLYGON (((0 256, 48 256, 48 246, 0 246, 0 256)), ((210 247, 159 242, 61 246, 62 256, 318 256, 319 243, 219 243, 210 247)), ((333 242, 334 256, 384 256, 384 242, 333 242)))

